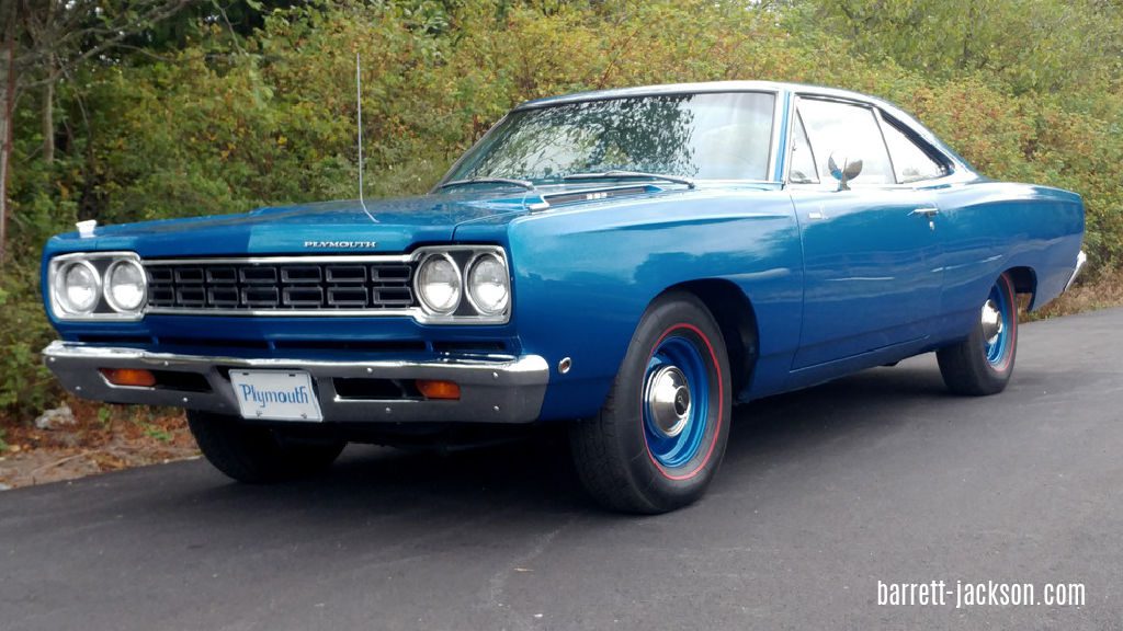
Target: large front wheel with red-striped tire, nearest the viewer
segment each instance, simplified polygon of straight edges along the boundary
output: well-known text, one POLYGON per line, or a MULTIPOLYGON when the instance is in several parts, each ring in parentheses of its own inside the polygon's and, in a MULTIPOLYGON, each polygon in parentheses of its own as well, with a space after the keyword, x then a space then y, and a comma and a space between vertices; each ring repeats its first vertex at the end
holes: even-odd
POLYGON ((643 314, 600 413, 572 426, 577 474, 602 505, 661 513, 694 502, 729 439, 725 344, 693 294, 669 293, 643 314))

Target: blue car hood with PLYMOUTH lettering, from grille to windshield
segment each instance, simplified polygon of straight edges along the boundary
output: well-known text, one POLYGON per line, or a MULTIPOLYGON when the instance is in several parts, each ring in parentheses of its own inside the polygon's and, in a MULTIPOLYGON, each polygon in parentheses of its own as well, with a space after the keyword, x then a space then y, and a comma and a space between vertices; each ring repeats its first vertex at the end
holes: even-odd
POLYGON ((45 256, 83 250, 135 252, 149 258, 401 253, 417 244, 454 241, 465 225, 472 226, 465 238, 471 234, 474 239, 502 243, 506 223, 528 212, 574 204, 611 208, 627 200, 691 195, 701 190, 569 184, 271 207, 240 214, 99 226, 92 237, 70 232, 53 238, 45 256))

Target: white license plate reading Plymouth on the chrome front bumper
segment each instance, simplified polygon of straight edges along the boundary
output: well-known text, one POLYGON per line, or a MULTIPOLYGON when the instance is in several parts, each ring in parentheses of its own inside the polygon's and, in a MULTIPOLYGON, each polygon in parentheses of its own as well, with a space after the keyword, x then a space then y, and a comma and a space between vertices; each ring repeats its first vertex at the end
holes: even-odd
POLYGON ((243 418, 322 421, 312 376, 303 371, 230 371, 243 418))

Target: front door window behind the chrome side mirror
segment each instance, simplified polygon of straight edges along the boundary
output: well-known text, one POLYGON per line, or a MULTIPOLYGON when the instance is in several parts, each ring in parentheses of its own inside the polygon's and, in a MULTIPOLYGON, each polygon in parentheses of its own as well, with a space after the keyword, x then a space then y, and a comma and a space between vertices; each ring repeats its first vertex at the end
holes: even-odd
POLYGON ((837 101, 802 99, 800 113, 820 173, 830 173, 827 162, 838 152, 862 161, 861 175, 853 185, 896 183, 874 110, 837 101))

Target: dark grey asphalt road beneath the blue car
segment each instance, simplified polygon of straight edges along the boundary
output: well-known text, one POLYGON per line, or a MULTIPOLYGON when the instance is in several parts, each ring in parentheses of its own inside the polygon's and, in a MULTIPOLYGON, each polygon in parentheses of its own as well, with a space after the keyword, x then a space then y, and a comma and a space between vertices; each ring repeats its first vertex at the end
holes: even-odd
POLYGON ((527 445, 0 493, 0 629, 1121 629, 1121 330, 1025 326, 988 399, 946 394, 929 355, 739 409, 709 495, 656 518, 599 511, 527 445), (1087 601, 877 604, 940 579, 1087 601))

